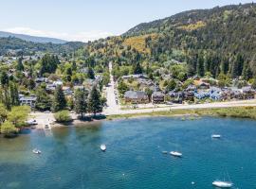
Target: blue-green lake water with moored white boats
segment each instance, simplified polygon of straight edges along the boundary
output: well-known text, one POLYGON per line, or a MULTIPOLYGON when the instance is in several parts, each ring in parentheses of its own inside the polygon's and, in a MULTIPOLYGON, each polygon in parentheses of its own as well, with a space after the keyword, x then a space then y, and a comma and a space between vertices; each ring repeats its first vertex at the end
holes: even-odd
POLYGON ((256 188, 255 121, 142 118, 47 133, 27 130, 15 139, 0 139, 4 189, 207 189, 224 177, 234 188, 256 188), (213 140, 212 133, 223 137, 213 140), (35 147, 42 155, 31 152, 35 147), (184 157, 163 150, 178 150, 184 157))

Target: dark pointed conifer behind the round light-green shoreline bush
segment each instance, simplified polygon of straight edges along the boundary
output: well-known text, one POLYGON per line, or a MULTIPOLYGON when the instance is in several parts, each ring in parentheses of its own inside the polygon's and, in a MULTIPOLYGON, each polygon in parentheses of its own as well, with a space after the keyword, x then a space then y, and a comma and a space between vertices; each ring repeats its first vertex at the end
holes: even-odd
POLYGON ((62 86, 58 85, 53 99, 53 112, 63 111, 66 108, 66 100, 62 86))

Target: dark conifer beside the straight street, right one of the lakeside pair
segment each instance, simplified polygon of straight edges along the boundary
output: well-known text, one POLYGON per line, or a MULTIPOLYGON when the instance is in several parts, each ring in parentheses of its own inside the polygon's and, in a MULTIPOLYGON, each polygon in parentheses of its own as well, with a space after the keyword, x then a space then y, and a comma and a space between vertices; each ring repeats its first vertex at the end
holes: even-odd
POLYGON ((94 113, 102 112, 101 95, 97 90, 96 86, 92 88, 88 101, 88 111, 94 113))

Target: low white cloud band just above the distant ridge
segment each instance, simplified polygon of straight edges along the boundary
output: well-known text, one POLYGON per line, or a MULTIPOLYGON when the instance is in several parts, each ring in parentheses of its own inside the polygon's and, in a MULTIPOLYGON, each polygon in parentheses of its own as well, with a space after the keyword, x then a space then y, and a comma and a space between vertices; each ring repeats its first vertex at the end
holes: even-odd
POLYGON ((12 27, 12 28, 0 29, 0 30, 11 32, 11 33, 26 34, 31 36, 58 38, 66 41, 81 41, 81 42, 94 41, 100 38, 113 36, 113 34, 110 32, 97 31, 97 30, 82 31, 78 33, 65 33, 65 32, 59 33, 54 31, 33 29, 29 27, 12 27))

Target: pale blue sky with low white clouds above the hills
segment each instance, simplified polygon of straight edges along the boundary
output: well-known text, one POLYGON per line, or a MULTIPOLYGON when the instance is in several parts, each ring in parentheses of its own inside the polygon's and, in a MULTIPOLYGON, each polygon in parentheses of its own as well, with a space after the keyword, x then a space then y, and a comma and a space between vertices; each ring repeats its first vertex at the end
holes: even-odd
POLYGON ((0 30, 66 41, 120 35, 140 23, 190 9, 247 0, 0 0, 0 30))

